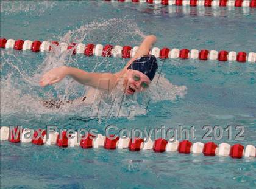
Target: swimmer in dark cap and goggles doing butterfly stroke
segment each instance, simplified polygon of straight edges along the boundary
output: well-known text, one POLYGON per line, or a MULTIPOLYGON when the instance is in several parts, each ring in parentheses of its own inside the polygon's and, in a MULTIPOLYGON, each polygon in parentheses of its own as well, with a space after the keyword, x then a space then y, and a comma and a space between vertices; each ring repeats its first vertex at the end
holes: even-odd
MULTIPOLYGON (((118 84, 118 81, 123 80, 124 94, 133 95, 135 92, 143 92, 149 87, 158 69, 157 59, 154 55, 149 55, 149 50, 156 40, 157 38, 154 35, 146 36, 135 53, 135 56, 119 72, 86 72, 85 70, 74 67, 62 66, 46 72, 41 77, 40 86, 44 87, 58 83, 66 76, 70 76, 80 84, 102 91, 111 91, 118 84)), ((82 97, 81 100, 84 101, 85 98, 86 96, 82 97)), ((67 101, 67 103, 72 103, 72 101, 67 101)), ((62 104, 63 102, 59 100, 57 103, 54 100, 44 101, 44 106, 48 108, 59 108, 62 104)))

